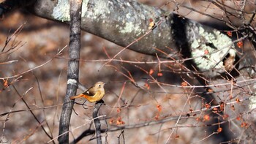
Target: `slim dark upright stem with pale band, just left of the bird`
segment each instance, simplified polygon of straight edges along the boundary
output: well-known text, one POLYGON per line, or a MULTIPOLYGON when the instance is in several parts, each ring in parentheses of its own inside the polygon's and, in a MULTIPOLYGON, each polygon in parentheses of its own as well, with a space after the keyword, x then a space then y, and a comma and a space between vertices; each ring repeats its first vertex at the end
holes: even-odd
POLYGON ((70 60, 67 69, 67 93, 64 99, 59 123, 59 143, 69 143, 69 123, 74 105, 74 100, 70 100, 69 96, 75 96, 78 88, 79 61, 76 60, 80 58, 81 3, 71 0, 70 7, 70 60))

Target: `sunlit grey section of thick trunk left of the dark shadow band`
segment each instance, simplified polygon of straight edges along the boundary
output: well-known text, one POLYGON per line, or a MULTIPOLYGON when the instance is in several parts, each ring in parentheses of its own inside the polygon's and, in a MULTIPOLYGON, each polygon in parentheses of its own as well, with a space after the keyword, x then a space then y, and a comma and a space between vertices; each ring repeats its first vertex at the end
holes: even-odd
MULTIPOLYGON (((69 23, 68 7, 57 1, 37 1, 36 7, 31 7, 36 15, 51 20, 69 23), (47 7, 47 8, 46 8, 47 7), (67 15, 65 15, 67 14, 67 15)), ((82 29, 118 45, 126 47, 148 31, 149 19, 157 21, 162 16, 162 10, 139 4, 136 1, 83 1, 82 29)), ((172 42, 170 23, 173 15, 129 49, 155 55, 160 48, 166 53, 170 46, 176 50, 172 42)), ((159 53, 163 56, 162 53, 159 53)))

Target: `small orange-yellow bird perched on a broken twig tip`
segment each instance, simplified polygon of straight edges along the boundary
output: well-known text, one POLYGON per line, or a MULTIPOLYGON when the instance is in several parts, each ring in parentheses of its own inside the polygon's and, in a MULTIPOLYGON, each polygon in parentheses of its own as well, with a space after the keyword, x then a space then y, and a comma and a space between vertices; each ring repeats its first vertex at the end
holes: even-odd
POLYGON ((83 94, 78 94, 76 96, 71 96, 69 98, 70 99, 76 99, 76 98, 79 98, 79 97, 84 97, 89 102, 98 102, 105 95, 104 85, 105 85, 105 83, 99 81, 99 82, 95 83, 94 86, 89 88, 83 94))

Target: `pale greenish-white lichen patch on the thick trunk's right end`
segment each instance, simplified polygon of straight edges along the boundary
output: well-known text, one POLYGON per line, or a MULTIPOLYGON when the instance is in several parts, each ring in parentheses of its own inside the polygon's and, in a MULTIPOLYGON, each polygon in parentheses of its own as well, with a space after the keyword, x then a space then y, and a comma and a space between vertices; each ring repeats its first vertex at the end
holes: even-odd
POLYGON ((209 32, 199 27, 199 37, 191 44, 192 58, 195 64, 202 70, 223 69, 223 58, 230 54, 236 56, 232 39, 214 29, 209 32))

